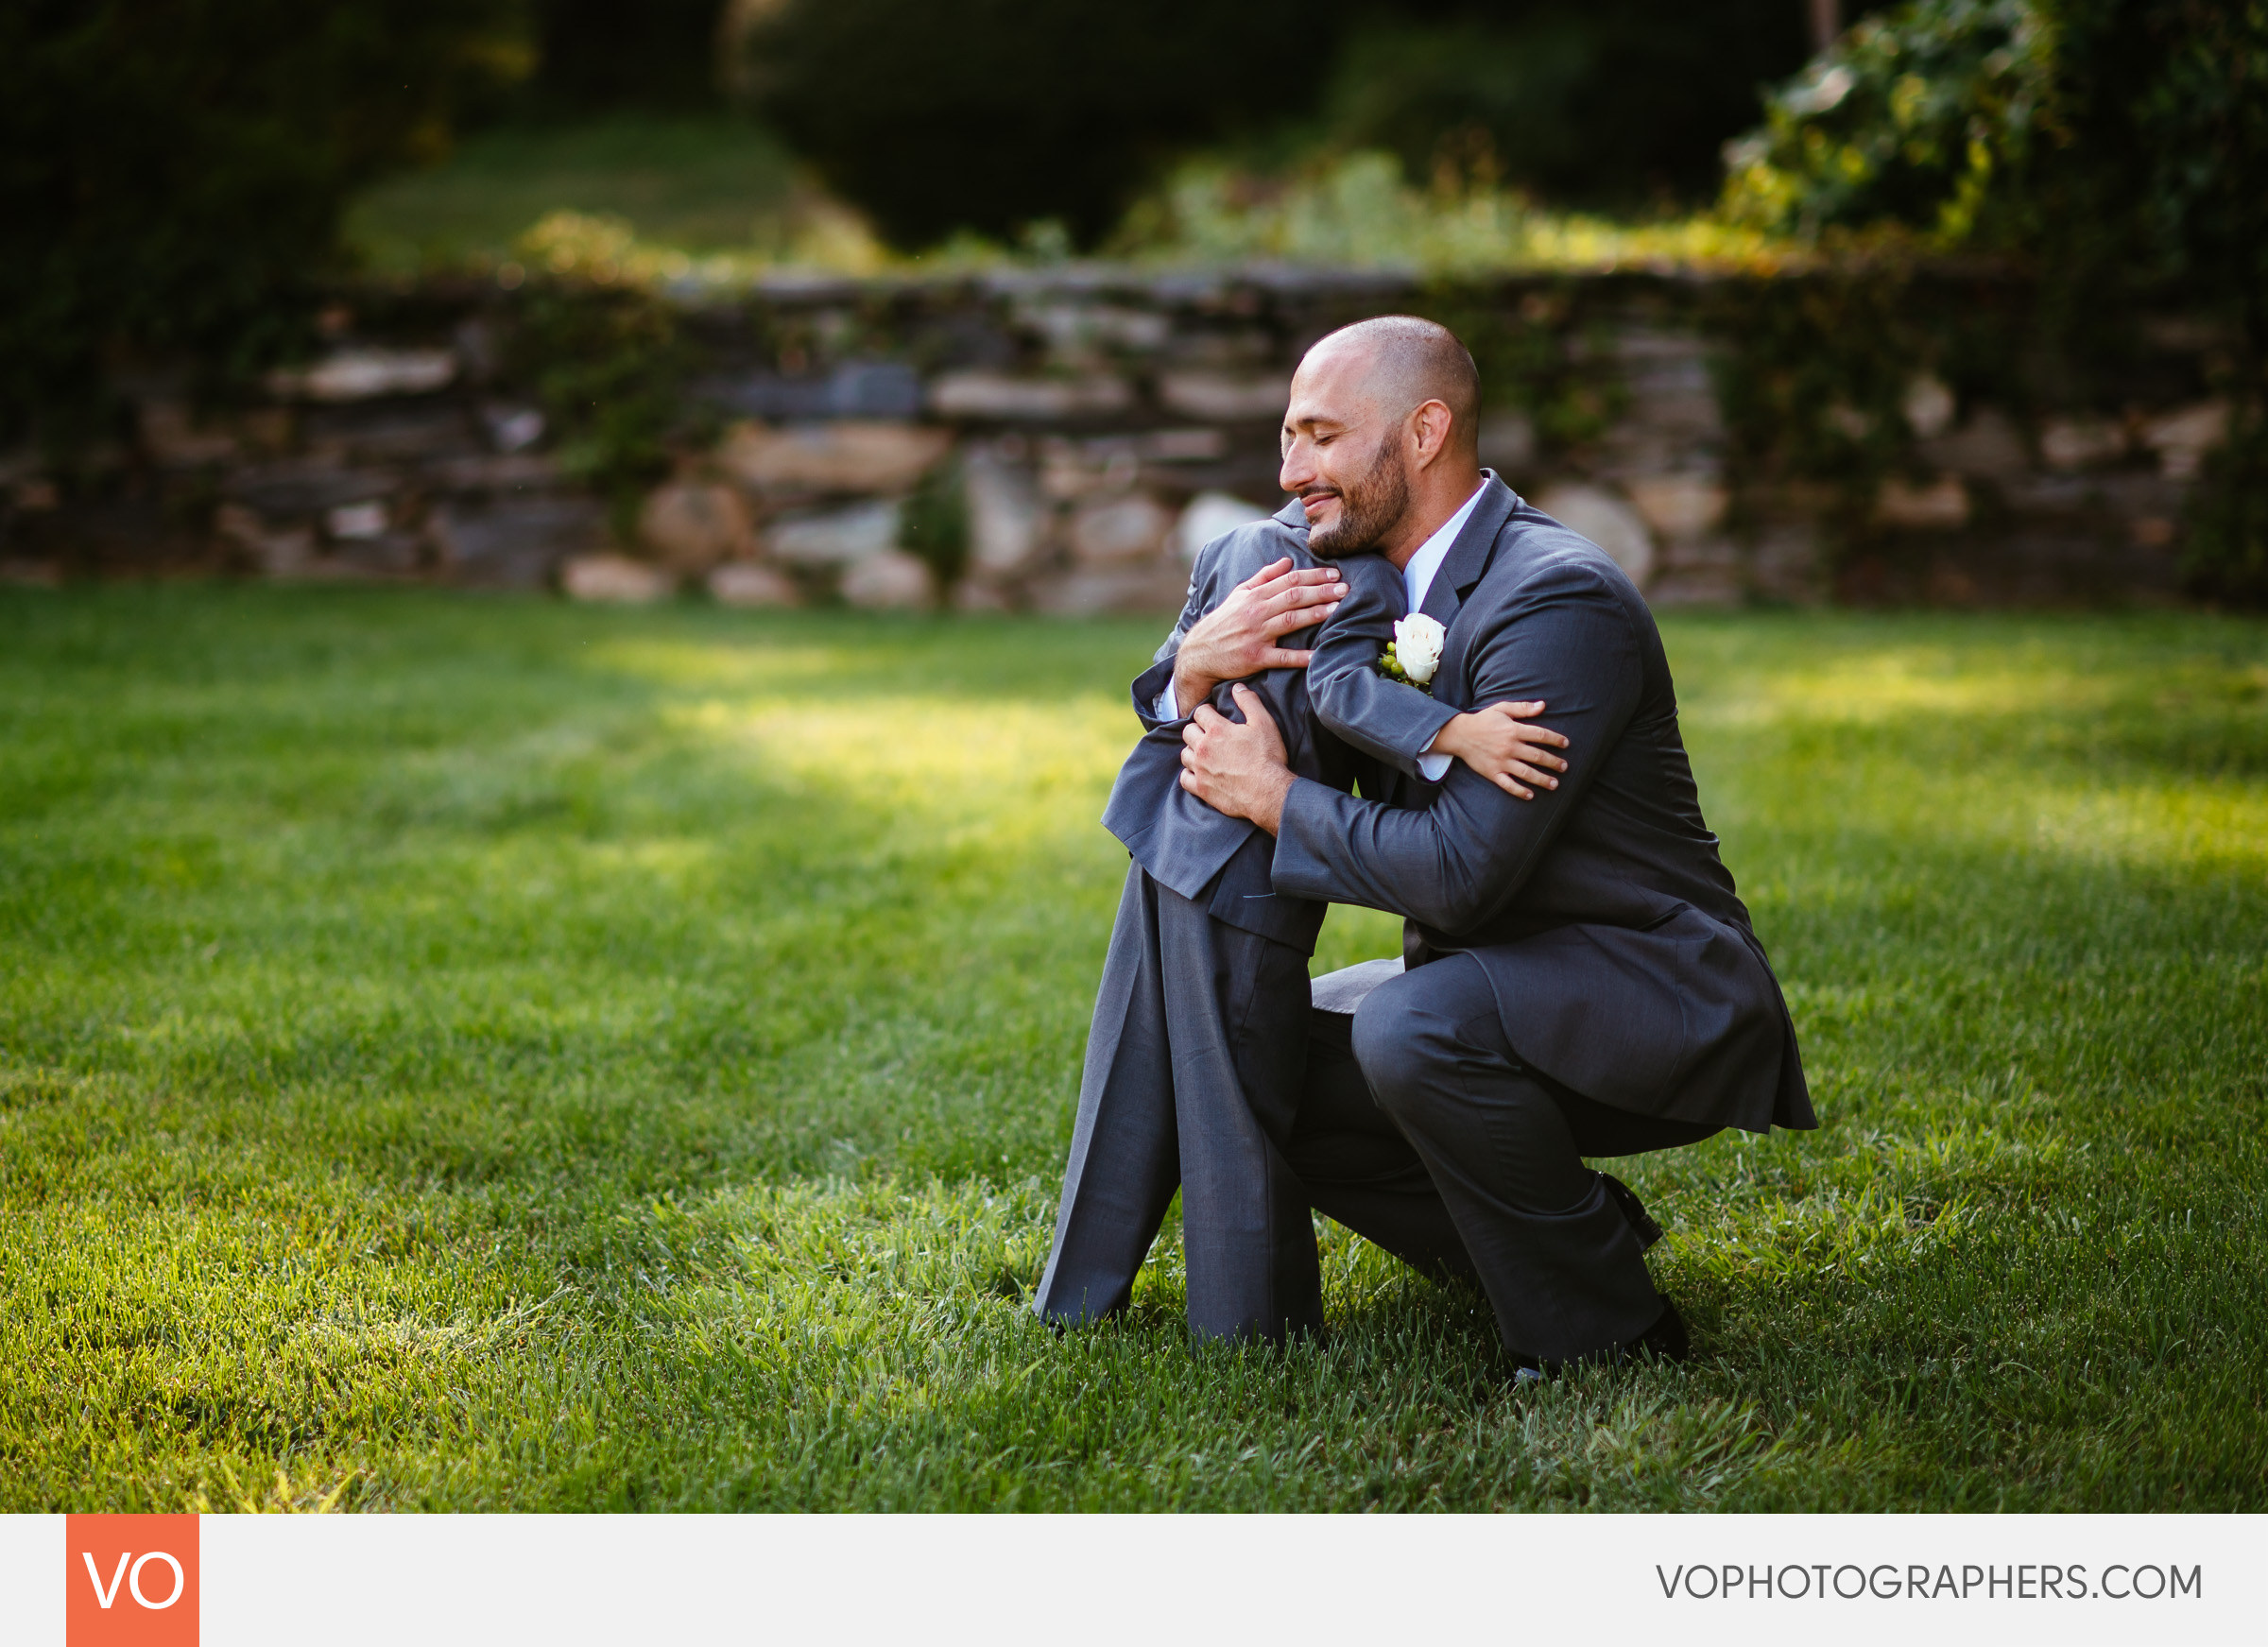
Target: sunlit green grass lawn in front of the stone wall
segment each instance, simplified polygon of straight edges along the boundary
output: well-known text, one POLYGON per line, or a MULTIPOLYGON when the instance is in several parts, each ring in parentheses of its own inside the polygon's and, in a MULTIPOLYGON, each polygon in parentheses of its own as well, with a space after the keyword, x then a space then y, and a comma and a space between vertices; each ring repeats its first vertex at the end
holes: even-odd
POLYGON ((1025 1311, 1154 628, 0 590, 0 1511, 2268 1509, 2268 628, 1667 624, 1823 1125, 1522 1393, 1025 1311))

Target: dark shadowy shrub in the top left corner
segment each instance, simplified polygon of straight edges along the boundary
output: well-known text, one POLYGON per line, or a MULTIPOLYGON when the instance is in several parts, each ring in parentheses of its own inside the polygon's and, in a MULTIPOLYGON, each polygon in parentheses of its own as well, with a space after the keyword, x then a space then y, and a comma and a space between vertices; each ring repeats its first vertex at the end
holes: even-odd
POLYGON ((0 7, 0 440, 93 431, 107 361, 304 343, 349 191, 526 68, 522 0, 0 7))

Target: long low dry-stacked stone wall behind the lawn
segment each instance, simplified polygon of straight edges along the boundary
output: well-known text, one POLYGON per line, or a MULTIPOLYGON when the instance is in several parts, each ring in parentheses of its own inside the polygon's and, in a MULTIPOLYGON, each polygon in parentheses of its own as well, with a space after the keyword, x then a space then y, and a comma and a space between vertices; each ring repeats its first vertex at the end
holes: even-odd
MULTIPOLYGON (((2177 324, 2152 331, 2107 413, 2100 392, 2091 413, 1998 404, 1916 363, 1889 413, 1903 456, 1855 497, 1776 465, 1753 417, 1728 433, 1737 343, 1710 286, 1676 274, 1447 297, 1313 270, 782 277, 730 302, 665 297, 694 363, 674 472, 610 508, 569 479, 572 442, 508 365, 519 302, 469 286, 347 299, 320 358, 227 415, 195 415, 166 377, 122 381, 132 438, 70 474, 0 458, 0 565, 1159 610, 1200 542, 1281 501, 1277 420, 1302 349, 1415 309, 1495 338, 1483 374, 1517 361, 1488 383, 1483 461, 1656 603, 2168 599, 2182 495, 2225 424, 2202 390, 2214 338, 2177 324), (934 554, 909 551, 909 510, 930 510, 937 540, 937 499, 966 535, 950 590, 934 554)), ((1817 415, 1853 442, 1880 420, 1817 415)))

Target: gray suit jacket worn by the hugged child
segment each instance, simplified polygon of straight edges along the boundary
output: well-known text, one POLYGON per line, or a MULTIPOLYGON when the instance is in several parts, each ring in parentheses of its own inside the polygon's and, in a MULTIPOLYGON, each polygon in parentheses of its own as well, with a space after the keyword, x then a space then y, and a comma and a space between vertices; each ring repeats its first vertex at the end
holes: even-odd
MULTIPOLYGON (((1102 826, 1125 842, 1152 880, 1204 903, 1213 919, 1313 953, 1325 905, 1281 896, 1270 869, 1275 842, 1254 824, 1216 812, 1182 787, 1182 728, 1188 721, 1157 715, 1157 699, 1173 681, 1182 635, 1220 606, 1229 590, 1284 556, 1300 567, 1318 565, 1306 549, 1306 515, 1297 501, 1272 520, 1238 526, 1198 551, 1182 617, 1157 649, 1150 669, 1134 681, 1134 712, 1141 717, 1143 737, 1118 769, 1118 783, 1111 785, 1111 799, 1102 808, 1102 826)), ((1338 567, 1347 599, 1318 628, 1284 637, 1290 649, 1318 647, 1315 662, 1306 669, 1268 669, 1243 685, 1268 703, 1284 733, 1293 771, 1347 789, 1361 762, 1318 728, 1318 717, 1309 708, 1311 692, 1331 703, 1327 721, 1361 726, 1365 746, 1393 746, 1415 737, 1413 749, 1424 749, 1454 710, 1436 712, 1422 692, 1377 674, 1379 653, 1393 637, 1393 622, 1402 617, 1402 574, 1379 556, 1349 556, 1338 567)), ((1229 719, 1243 719, 1229 687, 1218 687, 1211 703, 1229 719)))

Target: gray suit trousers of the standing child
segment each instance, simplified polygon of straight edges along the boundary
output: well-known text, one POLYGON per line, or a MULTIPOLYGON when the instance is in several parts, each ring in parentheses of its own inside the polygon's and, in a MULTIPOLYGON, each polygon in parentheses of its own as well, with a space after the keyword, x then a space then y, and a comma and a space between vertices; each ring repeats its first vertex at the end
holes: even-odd
POLYGON ((1279 1341, 1322 1325, 1309 1198, 1284 1162, 1306 1016, 1304 953, 1127 869, 1055 1250, 1032 1300, 1043 1320, 1123 1309, 1179 1189, 1198 1338, 1279 1341))

